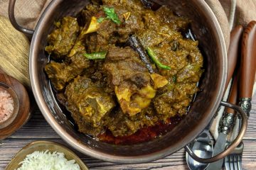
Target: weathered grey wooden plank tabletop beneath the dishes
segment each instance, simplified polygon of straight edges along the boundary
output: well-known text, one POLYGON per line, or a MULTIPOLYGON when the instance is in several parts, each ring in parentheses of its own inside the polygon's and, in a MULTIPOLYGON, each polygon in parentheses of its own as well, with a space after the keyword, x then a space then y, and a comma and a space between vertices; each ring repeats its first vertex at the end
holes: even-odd
MULTIPOLYGON (((252 98, 252 111, 249 125, 244 137, 245 149, 242 157, 244 169, 256 169, 256 95, 252 98)), ((29 122, 18 130, 14 135, 2 140, 0 143, 0 170, 10 162, 11 158, 22 147, 35 140, 48 140, 67 145, 55 131, 48 125, 40 111, 33 113, 29 122)), ((76 152, 76 151, 75 151, 76 152)), ((113 164, 102 162, 99 159, 88 157, 76 152, 90 169, 188 169, 184 149, 164 159, 159 159, 147 164, 113 164)))

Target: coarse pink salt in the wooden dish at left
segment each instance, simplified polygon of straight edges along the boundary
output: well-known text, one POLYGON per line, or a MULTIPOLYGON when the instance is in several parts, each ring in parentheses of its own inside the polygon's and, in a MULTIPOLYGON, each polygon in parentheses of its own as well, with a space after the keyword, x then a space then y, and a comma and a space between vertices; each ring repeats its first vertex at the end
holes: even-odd
POLYGON ((8 120, 14 111, 14 99, 8 91, 0 88, 0 123, 8 120))

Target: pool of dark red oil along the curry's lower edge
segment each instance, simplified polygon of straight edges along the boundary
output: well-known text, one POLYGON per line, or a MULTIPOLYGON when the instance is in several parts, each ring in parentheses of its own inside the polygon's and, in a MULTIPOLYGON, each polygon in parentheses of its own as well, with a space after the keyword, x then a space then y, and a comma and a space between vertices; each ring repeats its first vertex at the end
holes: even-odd
POLYGON ((184 117, 185 116, 176 116, 174 118, 169 118, 167 123, 159 122, 154 126, 142 128, 135 132, 133 135, 129 136, 114 137, 112 132, 107 130, 105 133, 98 135, 97 138, 101 141, 114 145, 132 145, 136 143, 147 142, 161 135, 165 135, 166 132, 171 131, 184 117))

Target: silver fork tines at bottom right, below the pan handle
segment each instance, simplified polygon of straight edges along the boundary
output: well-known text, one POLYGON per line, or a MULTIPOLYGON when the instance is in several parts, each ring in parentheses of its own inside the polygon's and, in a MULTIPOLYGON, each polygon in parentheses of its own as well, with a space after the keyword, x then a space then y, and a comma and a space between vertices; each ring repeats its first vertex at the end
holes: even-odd
POLYGON ((231 154, 225 157, 225 169, 226 170, 242 170, 242 151, 244 145, 240 142, 240 145, 236 147, 231 154))

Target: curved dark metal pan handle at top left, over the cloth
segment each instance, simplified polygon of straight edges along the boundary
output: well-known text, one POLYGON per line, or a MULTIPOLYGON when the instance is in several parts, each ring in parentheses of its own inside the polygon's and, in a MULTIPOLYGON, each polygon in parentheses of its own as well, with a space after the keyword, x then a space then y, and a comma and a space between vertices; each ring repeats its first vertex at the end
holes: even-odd
POLYGON ((11 21, 11 25, 16 28, 16 30, 21 31, 22 33, 25 33, 28 35, 28 37, 32 37, 34 30, 29 30, 27 28, 23 28, 18 25, 16 22, 15 16, 14 16, 14 6, 15 6, 16 0, 9 0, 9 8, 8 8, 8 13, 9 13, 9 19, 11 21))

